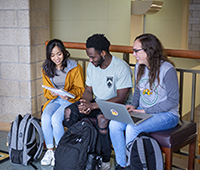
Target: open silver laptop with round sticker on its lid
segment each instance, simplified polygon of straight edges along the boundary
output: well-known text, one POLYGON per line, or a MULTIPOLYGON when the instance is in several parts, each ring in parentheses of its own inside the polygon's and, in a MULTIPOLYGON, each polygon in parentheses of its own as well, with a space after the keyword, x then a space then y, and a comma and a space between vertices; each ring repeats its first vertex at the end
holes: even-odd
POLYGON ((106 119, 116 120, 126 124, 138 125, 152 115, 139 112, 128 112, 125 105, 96 99, 106 119))

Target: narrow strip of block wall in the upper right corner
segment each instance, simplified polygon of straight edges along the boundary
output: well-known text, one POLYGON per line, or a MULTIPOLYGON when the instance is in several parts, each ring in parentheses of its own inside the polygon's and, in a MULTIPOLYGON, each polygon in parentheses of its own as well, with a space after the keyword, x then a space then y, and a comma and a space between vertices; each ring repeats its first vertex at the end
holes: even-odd
POLYGON ((200 0, 190 0, 188 49, 200 51, 200 0))

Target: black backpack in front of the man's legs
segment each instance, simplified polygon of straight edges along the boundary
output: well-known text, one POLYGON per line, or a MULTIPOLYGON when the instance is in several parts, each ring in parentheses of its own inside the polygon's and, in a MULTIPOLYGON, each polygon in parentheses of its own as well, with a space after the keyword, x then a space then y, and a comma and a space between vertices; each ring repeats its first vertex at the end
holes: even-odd
POLYGON ((55 150, 54 170, 85 170, 89 153, 95 153, 97 130, 89 119, 69 127, 55 150))

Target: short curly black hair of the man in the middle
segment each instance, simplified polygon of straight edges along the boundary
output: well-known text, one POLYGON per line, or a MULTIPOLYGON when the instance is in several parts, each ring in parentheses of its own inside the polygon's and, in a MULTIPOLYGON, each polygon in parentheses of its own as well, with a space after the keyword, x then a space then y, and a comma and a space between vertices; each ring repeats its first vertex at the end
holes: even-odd
POLYGON ((110 41, 104 34, 93 34, 86 41, 87 48, 94 48, 95 51, 102 52, 103 50, 109 53, 110 41))

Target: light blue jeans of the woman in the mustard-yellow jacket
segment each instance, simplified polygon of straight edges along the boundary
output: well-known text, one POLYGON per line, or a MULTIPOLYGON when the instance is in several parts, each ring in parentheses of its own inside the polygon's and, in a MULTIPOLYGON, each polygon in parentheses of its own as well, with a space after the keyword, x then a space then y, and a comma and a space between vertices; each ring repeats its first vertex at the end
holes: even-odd
POLYGON ((53 137, 55 145, 58 145, 60 138, 64 134, 63 120, 64 109, 71 103, 61 99, 59 96, 52 100, 42 113, 42 131, 47 148, 53 148, 53 137))

